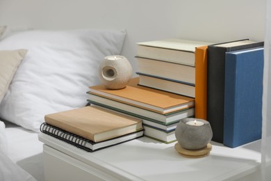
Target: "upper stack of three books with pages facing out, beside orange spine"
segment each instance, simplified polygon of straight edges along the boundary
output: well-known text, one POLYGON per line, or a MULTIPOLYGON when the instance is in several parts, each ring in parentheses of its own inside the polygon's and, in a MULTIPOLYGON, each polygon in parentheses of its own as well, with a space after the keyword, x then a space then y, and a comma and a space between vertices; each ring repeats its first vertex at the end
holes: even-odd
POLYGON ((139 42, 140 85, 195 97, 195 48, 207 42, 167 39, 139 42))

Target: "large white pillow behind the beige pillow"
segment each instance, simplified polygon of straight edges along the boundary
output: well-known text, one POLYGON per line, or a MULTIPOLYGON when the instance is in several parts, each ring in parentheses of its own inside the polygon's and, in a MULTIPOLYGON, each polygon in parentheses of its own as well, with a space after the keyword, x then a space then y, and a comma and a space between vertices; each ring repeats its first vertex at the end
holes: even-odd
POLYGON ((0 49, 28 49, 0 104, 0 117, 39 131, 44 115, 87 104, 88 86, 99 84, 104 56, 120 54, 125 31, 85 29, 24 31, 0 49))

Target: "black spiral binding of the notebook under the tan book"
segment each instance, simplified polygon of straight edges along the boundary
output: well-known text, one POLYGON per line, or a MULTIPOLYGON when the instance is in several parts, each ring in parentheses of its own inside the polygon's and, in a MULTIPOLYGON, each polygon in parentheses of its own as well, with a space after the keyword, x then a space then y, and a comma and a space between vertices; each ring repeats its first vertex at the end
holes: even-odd
POLYGON ((89 139, 85 139, 82 136, 78 136, 76 134, 73 134, 71 132, 67 132, 63 129, 60 129, 59 127, 55 127, 53 125, 49 125, 48 123, 42 123, 40 125, 40 132, 44 134, 48 134, 50 136, 53 136, 56 139, 60 139, 62 141, 65 141, 66 143, 72 144, 76 146, 77 148, 81 148, 83 150, 86 150, 88 152, 92 152, 90 148, 86 147, 87 143, 92 144, 92 141, 89 139))

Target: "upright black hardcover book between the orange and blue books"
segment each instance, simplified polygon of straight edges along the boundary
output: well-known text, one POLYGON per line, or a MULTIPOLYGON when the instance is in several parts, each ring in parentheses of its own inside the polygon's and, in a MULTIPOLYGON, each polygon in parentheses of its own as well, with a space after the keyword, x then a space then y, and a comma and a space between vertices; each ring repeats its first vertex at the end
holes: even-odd
POLYGON ((223 143, 225 53, 262 46, 263 42, 250 40, 208 45, 207 120, 213 129, 213 141, 223 143))

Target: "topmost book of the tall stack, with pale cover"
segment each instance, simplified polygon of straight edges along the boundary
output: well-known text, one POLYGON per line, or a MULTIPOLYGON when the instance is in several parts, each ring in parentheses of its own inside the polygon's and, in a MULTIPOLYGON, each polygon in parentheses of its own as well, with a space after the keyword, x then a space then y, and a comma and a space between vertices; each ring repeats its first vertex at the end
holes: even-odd
POLYGON ((138 42, 137 56, 195 66, 195 47, 210 44, 177 38, 138 42))

